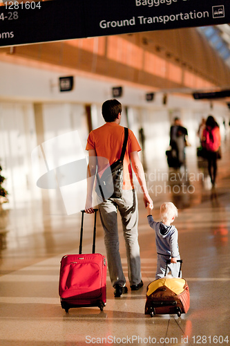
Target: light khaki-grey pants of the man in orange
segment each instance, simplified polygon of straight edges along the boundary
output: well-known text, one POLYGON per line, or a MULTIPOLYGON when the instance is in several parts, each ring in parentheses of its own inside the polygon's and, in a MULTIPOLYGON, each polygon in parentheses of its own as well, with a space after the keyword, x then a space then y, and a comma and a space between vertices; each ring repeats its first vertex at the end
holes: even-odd
POLYGON ((140 247, 138 243, 138 206, 135 190, 123 190, 122 198, 111 198, 105 202, 97 197, 99 214, 104 228, 108 271, 113 286, 125 286, 126 279, 119 254, 119 236, 117 228, 117 211, 122 218, 122 228, 126 244, 128 262, 128 280, 130 285, 139 284, 142 280, 140 270, 140 247))

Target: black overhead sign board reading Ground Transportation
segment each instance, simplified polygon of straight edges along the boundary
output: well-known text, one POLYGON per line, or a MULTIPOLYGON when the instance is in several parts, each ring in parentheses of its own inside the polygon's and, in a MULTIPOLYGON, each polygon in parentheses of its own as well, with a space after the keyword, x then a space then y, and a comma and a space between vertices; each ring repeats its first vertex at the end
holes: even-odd
POLYGON ((0 46, 230 22, 229 0, 0 2, 0 46))

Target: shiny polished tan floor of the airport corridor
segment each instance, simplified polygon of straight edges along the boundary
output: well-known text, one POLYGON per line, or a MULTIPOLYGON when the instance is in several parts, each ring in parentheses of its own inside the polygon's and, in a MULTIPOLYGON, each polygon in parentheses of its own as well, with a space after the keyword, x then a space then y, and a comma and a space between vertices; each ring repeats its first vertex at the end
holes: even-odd
MULTIPOLYGON (((183 259, 182 276, 189 284, 191 295, 190 309, 180 318, 144 315, 146 286, 155 277, 156 254, 154 234, 146 222, 140 194, 139 239, 144 287, 131 291, 127 283, 128 293, 114 298, 107 275, 104 311, 95 307, 70 309, 66 313, 59 302, 59 264, 62 255, 78 251, 80 213, 67 217, 44 212, 41 219, 37 216, 37 206, 1 212, 0 345, 228 345, 229 148, 227 136, 222 144, 215 188, 211 188, 207 167, 198 165, 194 155, 184 172, 163 172, 157 163, 149 165, 147 170, 155 219, 162 201, 173 201, 179 209, 175 226, 183 259), (154 170, 157 179, 153 179, 154 170), (32 215, 28 210, 33 210, 32 215)), ((88 253, 93 220, 90 215, 85 219, 83 252, 88 253)), ((121 228, 120 249, 127 276, 121 228)), ((99 220, 96 251, 105 254, 99 220)))

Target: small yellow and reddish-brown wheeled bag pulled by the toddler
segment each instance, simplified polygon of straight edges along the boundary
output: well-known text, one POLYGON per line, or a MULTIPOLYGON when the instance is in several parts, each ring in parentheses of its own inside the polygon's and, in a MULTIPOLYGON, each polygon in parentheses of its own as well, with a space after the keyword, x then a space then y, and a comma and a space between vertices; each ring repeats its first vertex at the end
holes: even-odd
MULTIPOLYGON (((171 261, 166 262, 167 266, 171 261)), ((180 271, 182 260, 180 262, 180 271)), ((185 279, 180 277, 163 277, 148 284, 146 289, 145 314, 153 317, 164 313, 177 313, 178 317, 189 310, 190 295, 189 286, 185 279)))

